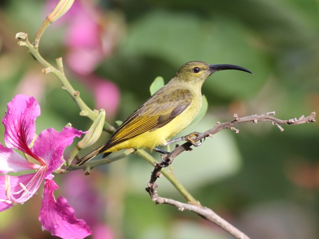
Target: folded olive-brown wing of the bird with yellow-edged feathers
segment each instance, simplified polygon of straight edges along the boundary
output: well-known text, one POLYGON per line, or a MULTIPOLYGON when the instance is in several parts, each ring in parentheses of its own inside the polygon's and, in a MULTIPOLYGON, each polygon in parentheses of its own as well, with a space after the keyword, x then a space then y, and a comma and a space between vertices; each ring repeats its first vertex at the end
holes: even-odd
POLYGON ((113 134, 110 143, 115 145, 146 131, 160 128, 181 114, 191 103, 191 93, 175 90, 156 93, 137 109, 113 134))

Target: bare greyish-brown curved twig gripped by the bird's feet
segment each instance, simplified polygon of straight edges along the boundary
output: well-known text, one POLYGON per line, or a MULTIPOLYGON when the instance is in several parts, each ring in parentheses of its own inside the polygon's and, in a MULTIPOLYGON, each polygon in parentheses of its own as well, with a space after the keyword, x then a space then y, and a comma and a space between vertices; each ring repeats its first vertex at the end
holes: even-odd
MULTIPOLYGON (((226 232, 230 233, 235 238, 249 239, 248 236, 246 236, 244 233, 239 231, 237 228, 235 228, 234 226, 232 226, 231 224, 229 224, 228 222, 226 222, 225 220, 220 218, 212 210, 201 206, 200 203, 198 201, 196 201, 194 198, 190 199, 190 198, 185 197, 185 195, 183 195, 186 198, 186 200, 188 201, 188 203, 185 204, 185 203, 181 203, 181 202, 178 202, 178 201, 175 201, 172 199, 159 197, 157 194, 157 191, 155 190, 158 187, 156 180, 161 176, 161 173, 160 173, 161 169, 163 167, 167 167, 169 164, 171 164, 173 162, 173 159, 177 155, 182 153, 183 151, 190 151, 191 150, 190 147, 193 145, 194 142, 197 142, 197 141, 199 141, 205 137, 208 137, 208 136, 212 137, 213 134, 215 134, 215 133, 217 133, 225 128, 232 129, 236 133, 238 133, 239 132, 238 129, 236 129, 234 127, 234 125, 236 125, 236 124, 243 123, 243 122, 257 123, 258 121, 269 121, 269 122, 272 122, 274 125, 277 125, 279 127, 279 129, 281 131, 283 131, 284 128, 281 126, 281 124, 301 124, 301 123, 309 123, 309 122, 316 121, 316 119, 315 119, 316 113, 315 112, 313 112, 308 117, 302 116, 299 119, 294 118, 294 119, 289 119, 289 120, 276 119, 274 117, 271 117, 271 115, 275 115, 275 112, 266 113, 265 115, 261 115, 261 116, 255 115, 255 116, 247 116, 247 117, 243 117, 243 118, 238 118, 237 114, 235 114, 234 115, 235 119, 233 121, 229 121, 229 122, 225 122, 225 123, 217 122, 213 128, 207 130, 206 132, 197 134, 197 137, 193 138, 191 140, 192 142, 186 142, 180 146, 176 144, 176 147, 173 151, 171 151, 168 154, 162 155, 162 162, 161 163, 157 163, 157 162, 154 163, 155 169, 152 172, 151 179, 150 179, 150 182, 148 183, 148 187, 146 188, 146 191, 150 194, 152 200, 155 201, 157 204, 165 203, 165 204, 169 204, 169 205, 177 207, 178 210, 180 210, 180 211, 184 211, 185 209, 193 211, 193 212, 197 213, 198 215, 200 215, 201 217, 205 218, 206 220, 216 224, 217 226, 219 226, 220 228, 222 228, 226 232)), ((193 133, 191 133, 189 135, 193 135, 193 133)))

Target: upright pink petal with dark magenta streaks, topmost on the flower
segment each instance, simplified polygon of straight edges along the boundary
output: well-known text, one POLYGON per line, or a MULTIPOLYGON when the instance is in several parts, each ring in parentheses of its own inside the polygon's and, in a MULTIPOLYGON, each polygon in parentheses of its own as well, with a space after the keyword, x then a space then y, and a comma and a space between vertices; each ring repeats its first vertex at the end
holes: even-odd
POLYGON ((37 101, 33 97, 16 95, 7 104, 7 109, 2 119, 6 146, 31 154, 28 146, 35 135, 34 120, 40 115, 37 101))

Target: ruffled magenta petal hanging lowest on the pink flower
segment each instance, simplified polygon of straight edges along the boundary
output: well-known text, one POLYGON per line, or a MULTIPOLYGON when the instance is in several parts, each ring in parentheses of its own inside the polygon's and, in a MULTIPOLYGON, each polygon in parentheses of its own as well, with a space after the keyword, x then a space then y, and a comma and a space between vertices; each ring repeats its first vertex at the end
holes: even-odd
POLYGON ((64 197, 60 196, 55 201, 53 193, 58 188, 53 180, 45 180, 39 215, 43 229, 63 239, 83 239, 91 235, 89 226, 75 217, 74 209, 64 197))

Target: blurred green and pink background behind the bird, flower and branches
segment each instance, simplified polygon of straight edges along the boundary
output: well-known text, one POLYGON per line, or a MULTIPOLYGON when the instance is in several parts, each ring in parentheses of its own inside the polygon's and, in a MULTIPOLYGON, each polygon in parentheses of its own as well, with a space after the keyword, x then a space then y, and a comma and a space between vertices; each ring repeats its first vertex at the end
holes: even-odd
MULTIPOLYGON (((79 116, 59 81, 41 74, 41 65, 14 39, 23 31, 33 41, 54 2, 0 3, 1 117, 14 95, 27 94, 41 107, 37 133, 61 130, 68 122, 87 130, 90 120, 79 116)), ((52 64, 63 57, 73 87, 90 107, 105 108, 113 125, 147 100, 157 76, 167 82, 192 60, 235 64, 254 75, 213 74, 202 89, 208 112, 184 134, 230 121, 235 113, 275 111, 275 117, 291 119, 319 112, 318 0, 75 2, 49 26, 39 51, 52 64)), ((203 206, 252 239, 318 239, 318 123, 285 125, 284 132, 265 122, 237 128, 238 134, 223 130, 178 156, 174 174, 203 206)), ((103 134, 94 146, 108 137, 103 134)), ((156 206, 144 190, 151 171, 146 161, 130 155, 90 176, 55 175, 60 186, 55 196, 65 196, 76 216, 88 222, 92 239, 232 238, 191 212, 156 206)), ((183 201, 165 178, 158 182, 160 196, 183 201)), ((0 238, 55 238, 41 231, 40 195, 0 213, 0 238)))

